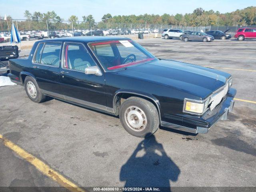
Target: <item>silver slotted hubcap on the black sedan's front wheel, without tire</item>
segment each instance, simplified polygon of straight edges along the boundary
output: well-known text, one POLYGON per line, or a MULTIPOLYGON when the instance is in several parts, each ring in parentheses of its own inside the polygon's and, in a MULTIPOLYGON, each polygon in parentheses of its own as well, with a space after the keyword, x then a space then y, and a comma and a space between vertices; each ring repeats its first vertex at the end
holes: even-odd
POLYGON ((147 117, 144 111, 137 106, 128 107, 125 112, 125 122, 134 131, 143 131, 147 126, 147 117))

